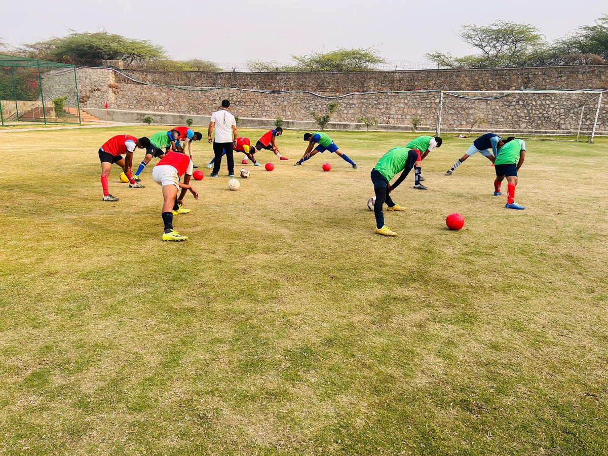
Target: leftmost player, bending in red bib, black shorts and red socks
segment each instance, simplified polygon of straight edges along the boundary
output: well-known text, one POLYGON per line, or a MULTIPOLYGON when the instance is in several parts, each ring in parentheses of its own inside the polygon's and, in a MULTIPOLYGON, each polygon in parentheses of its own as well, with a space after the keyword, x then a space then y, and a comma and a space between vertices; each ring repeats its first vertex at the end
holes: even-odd
POLYGON ((99 148, 99 160, 102 162, 102 188, 103 188, 103 201, 118 201, 119 198, 110 195, 108 188, 108 177, 112 165, 116 163, 125 172, 126 177, 129 179, 130 188, 143 188, 145 185, 137 184, 133 176, 131 175, 131 165, 133 165, 133 151, 136 147, 140 149, 147 148, 150 145, 150 140, 142 136, 137 139, 135 136, 130 134, 119 134, 112 136, 102 147, 99 148), (126 154, 122 157, 122 154, 126 154))

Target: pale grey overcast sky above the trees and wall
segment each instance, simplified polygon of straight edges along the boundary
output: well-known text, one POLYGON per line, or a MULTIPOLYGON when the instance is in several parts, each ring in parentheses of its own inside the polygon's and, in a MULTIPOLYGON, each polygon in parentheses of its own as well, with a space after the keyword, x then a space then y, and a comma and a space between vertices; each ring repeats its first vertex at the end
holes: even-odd
POLYGON ((0 36, 18 45, 104 28, 161 44, 173 58, 224 64, 368 46, 390 61, 418 62, 436 49, 469 53, 458 38, 465 24, 528 22, 553 40, 603 14, 606 0, 0 0, 0 36))

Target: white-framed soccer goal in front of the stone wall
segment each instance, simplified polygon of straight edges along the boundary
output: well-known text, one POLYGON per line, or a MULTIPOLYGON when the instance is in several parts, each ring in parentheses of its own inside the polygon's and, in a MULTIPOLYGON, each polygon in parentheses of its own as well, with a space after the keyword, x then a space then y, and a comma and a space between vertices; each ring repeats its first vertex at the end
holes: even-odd
POLYGON ((484 133, 576 136, 608 134, 605 91, 444 91, 437 134, 484 133))

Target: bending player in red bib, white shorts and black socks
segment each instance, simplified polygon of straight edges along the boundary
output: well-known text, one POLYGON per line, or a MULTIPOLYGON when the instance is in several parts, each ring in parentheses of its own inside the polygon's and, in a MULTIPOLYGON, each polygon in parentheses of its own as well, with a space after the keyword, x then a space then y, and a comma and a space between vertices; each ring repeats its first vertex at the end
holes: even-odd
MULTIPOLYGON (((198 192, 190 185, 192 176, 192 160, 181 152, 168 152, 152 170, 154 182, 162 186, 162 221, 165 224, 165 232, 162 235, 163 241, 185 241, 187 236, 181 235, 173 230, 174 206, 184 202, 187 190, 192 192, 194 199, 198 199, 198 192), (179 178, 184 176, 184 183, 179 182, 179 178), (178 198, 178 190, 182 189, 178 198)), ((188 210, 190 212, 190 210, 188 210)))

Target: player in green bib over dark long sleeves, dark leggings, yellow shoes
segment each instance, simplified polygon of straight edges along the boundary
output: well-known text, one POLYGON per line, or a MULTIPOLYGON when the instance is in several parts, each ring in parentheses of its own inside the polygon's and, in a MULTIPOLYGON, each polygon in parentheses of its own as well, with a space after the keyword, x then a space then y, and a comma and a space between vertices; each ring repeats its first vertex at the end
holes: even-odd
POLYGON ((371 182, 374 184, 374 192, 376 193, 376 201, 374 203, 374 215, 376 216, 376 233, 384 236, 396 236, 397 233, 391 231, 384 224, 384 212, 382 206, 386 202, 389 210, 405 210, 404 207, 395 204, 390 198, 390 192, 395 190, 407 174, 415 167, 416 164, 422 162, 420 151, 410 149, 409 147, 393 147, 385 153, 378 161, 378 164, 371 170, 371 182), (390 185, 390 179, 395 177, 395 174, 401 173, 401 176, 390 185))

